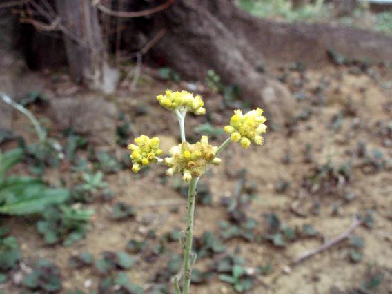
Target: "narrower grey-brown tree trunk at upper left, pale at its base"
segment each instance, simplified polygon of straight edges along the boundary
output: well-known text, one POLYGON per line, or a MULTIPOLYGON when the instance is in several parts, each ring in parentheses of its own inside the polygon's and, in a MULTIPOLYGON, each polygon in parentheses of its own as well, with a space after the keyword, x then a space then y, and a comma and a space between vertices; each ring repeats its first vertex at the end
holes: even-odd
POLYGON ((63 31, 71 76, 90 88, 113 92, 119 72, 108 63, 97 8, 88 0, 56 0, 57 11, 67 31, 63 31))

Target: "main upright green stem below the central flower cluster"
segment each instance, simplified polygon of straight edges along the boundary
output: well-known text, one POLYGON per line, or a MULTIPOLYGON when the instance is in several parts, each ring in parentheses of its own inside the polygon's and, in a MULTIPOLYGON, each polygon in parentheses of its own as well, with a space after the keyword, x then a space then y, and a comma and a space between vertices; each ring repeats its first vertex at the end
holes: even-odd
POLYGON ((189 294, 190 277, 192 277, 192 239, 193 239, 193 219, 195 215, 195 198, 198 178, 190 180, 188 190, 188 217, 186 224, 186 243, 184 248, 184 277, 182 280, 182 294, 189 294))

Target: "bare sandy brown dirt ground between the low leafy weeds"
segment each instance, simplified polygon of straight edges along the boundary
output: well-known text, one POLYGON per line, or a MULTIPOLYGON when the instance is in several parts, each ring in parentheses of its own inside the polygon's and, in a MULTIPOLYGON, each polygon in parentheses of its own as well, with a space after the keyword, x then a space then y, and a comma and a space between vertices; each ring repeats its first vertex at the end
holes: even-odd
MULTIPOLYGON (((392 293, 392 130, 391 133, 384 131, 392 121, 390 70, 369 68, 366 72, 358 72, 353 67, 330 66, 304 72, 276 69, 271 75, 284 77, 293 97, 298 98, 295 104, 297 119, 287 121, 287 126, 269 126, 262 147, 251 146, 242 150, 231 144, 224 151, 222 164, 211 168, 204 177, 213 194, 213 204, 197 206, 195 235, 213 231, 219 236, 218 222, 227 218, 220 198, 233 197, 237 179, 232 175, 246 168, 248 182, 257 184, 258 197, 247 210, 259 223, 256 233, 264 230, 262 215, 273 212, 284 224, 298 228, 311 224, 322 236, 299 238, 284 248, 273 246, 270 242, 246 242, 238 238, 224 242, 228 251, 239 248, 238 254, 244 257, 246 266, 273 266, 272 273, 258 277, 255 286, 246 293, 354 293, 349 291, 360 287, 369 277, 369 271, 383 275, 380 286, 369 293, 392 293), (369 153, 380 150, 386 158, 384 168, 368 170, 362 165, 362 159, 355 155, 358 142, 364 142, 369 153), (310 147, 306 146, 311 146, 311 151, 307 152, 310 147), (305 179, 313 175, 316 166, 327 161, 335 166, 350 161, 350 179, 332 184, 327 191, 320 187, 318 190, 307 188, 305 179), (280 191, 276 185, 282 181, 290 185, 280 191), (344 198, 348 193, 354 195, 350 201, 344 198), (366 210, 374 210, 374 224, 373 228, 360 226, 355 230, 354 235, 364 239, 364 257, 360 262, 350 261, 349 242, 344 241, 297 266, 291 265, 296 257, 322 245, 323 239, 331 239, 345 231, 353 216, 364 215, 366 210)), ((161 145, 167 150, 166 146, 175 144, 178 139, 177 122, 159 107, 155 96, 166 88, 182 89, 185 86, 185 82, 175 84, 145 78, 137 90, 129 92, 121 89, 117 95, 106 99, 114 101, 129 115, 136 134, 161 137, 161 145), (136 116, 135 107, 147 108, 148 112, 136 116)), ((222 110, 220 95, 206 88, 201 94, 207 112, 213 113, 213 124, 223 127, 232 110, 222 110)), ((26 134, 28 123, 17 114, 14 119, 15 131, 26 134)), ((190 115, 187 119, 188 133, 204 121, 202 117, 190 115)), ((213 143, 220 144, 224 139, 225 135, 218 136, 213 143)), ((114 153, 125 151, 114 145, 103 148, 114 153)), ((129 239, 143 239, 152 228, 158 239, 174 228, 184 229, 186 207, 181 204, 184 198, 173 189, 175 178, 169 179, 167 184, 162 181, 160 175, 164 170, 164 167, 155 166, 141 176, 134 175, 130 169, 106 175, 106 182, 115 191, 113 202, 139 207, 136 219, 112 221, 110 211, 113 202, 94 201, 88 204, 95 209, 95 218, 86 239, 69 247, 46 246, 30 218, 6 219, 6 224, 12 227, 12 235, 17 236, 21 244, 23 264, 31 265, 43 257, 57 264, 63 280, 62 293, 75 288, 84 291, 96 289, 99 276, 94 268, 75 271, 68 266, 70 256, 88 251, 98 258, 102 251, 124 250, 129 239), (179 205, 174 206, 177 209, 165 205, 166 200, 178 202, 179 205)), ((66 167, 47 170, 46 178, 55 181, 60 174, 66 176, 67 173, 66 167)), ((180 253, 177 242, 168 244, 168 247, 180 253)), ((135 284, 147 287, 155 273, 165 271, 167 262, 168 255, 165 254, 152 263, 140 259, 127 273, 135 284)), ((196 268, 204 268, 207 264, 208 261, 202 260, 196 268)), ((8 282, 5 288, 0 288, 0 292, 20 293, 21 288, 16 284, 15 280, 8 282)), ((215 276, 206 284, 193 286, 193 293, 235 291, 215 276)))

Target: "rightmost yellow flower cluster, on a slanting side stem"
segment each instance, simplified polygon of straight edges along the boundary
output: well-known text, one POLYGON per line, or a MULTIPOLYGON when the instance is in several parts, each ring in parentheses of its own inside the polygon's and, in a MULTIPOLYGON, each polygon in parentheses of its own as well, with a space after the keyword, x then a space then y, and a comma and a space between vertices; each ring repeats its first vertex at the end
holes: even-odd
POLYGON ((235 110, 230 119, 230 126, 225 126, 224 130, 231 134, 231 141, 239 141, 243 148, 251 146, 251 141, 257 145, 262 145, 262 133, 265 133, 267 128, 264 124, 266 118, 262 114, 262 108, 251 110, 244 115, 241 110, 235 110))

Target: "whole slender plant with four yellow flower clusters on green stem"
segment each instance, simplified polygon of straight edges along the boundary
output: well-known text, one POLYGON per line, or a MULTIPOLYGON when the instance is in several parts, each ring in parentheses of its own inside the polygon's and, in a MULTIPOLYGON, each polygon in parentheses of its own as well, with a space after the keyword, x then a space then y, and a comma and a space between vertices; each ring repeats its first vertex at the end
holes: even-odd
POLYGON ((193 97, 192 93, 172 92, 166 90, 165 95, 157 96, 161 106, 175 114, 179 121, 181 143, 170 148, 171 157, 161 159, 159 155, 163 151, 159 149, 159 138, 149 138, 141 135, 135 138, 135 144, 129 144, 128 148, 132 150, 130 158, 132 159, 132 170, 137 173, 142 166, 149 164, 163 164, 168 166, 166 175, 172 176, 177 173, 182 174, 185 182, 190 182, 188 189, 188 215, 186 224, 186 243, 184 244, 184 273, 182 277, 182 292, 179 288, 177 277, 174 280, 175 291, 177 294, 188 294, 190 288, 190 277, 192 275, 193 264, 196 255, 192 253, 193 242, 193 220, 195 214, 195 197, 197 182, 206 172, 208 167, 219 165, 221 159, 217 156, 230 144, 231 141, 239 142, 243 148, 248 148, 251 143, 257 145, 263 144, 262 134, 266 131, 266 118, 262 115, 263 110, 257 108, 242 114, 241 110, 235 110, 230 119, 230 124, 224 127, 230 137, 226 139, 219 147, 208 143, 208 137, 202 136, 200 141, 190 144, 185 137, 185 117, 187 112, 193 112, 195 115, 204 115, 206 108, 200 95, 193 97))

